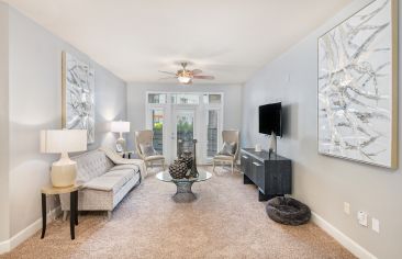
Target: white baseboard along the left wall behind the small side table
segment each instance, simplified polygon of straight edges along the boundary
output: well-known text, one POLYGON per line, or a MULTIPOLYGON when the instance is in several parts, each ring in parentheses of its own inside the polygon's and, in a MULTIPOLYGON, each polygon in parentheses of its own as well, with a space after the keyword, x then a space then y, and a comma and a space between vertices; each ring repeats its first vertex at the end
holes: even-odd
MULTIPOLYGON (((47 213, 47 224, 53 222, 52 215, 60 215, 62 207, 58 206, 47 213)), ((14 236, 12 236, 10 239, 0 243, 0 255, 4 252, 9 252, 15 247, 18 247, 21 243, 25 241, 27 238, 33 236, 37 230, 42 228, 42 217, 22 229, 21 232, 16 233, 14 236)))

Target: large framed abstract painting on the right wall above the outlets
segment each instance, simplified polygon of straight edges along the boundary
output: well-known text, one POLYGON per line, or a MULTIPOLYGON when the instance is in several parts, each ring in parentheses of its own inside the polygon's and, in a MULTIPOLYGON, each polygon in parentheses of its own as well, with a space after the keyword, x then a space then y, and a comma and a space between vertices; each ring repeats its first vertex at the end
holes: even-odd
POLYGON ((376 0, 319 38, 319 153, 395 168, 398 0, 376 0))

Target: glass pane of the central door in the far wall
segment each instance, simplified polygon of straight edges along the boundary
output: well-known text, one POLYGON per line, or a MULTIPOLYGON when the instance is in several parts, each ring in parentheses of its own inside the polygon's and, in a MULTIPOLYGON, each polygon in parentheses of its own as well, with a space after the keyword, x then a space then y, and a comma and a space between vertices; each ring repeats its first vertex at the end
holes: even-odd
POLYGON ((192 139, 194 133, 194 113, 179 112, 177 115, 177 156, 183 151, 192 150, 192 139))

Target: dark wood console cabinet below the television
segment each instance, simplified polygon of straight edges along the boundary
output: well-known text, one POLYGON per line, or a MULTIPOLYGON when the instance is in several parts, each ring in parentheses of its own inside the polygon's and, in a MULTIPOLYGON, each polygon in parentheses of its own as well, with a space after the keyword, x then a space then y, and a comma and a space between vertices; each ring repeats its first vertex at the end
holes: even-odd
POLYGON ((268 151, 255 151, 254 148, 241 150, 244 184, 258 187, 258 201, 290 194, 292 189, 292 161, 268 151))

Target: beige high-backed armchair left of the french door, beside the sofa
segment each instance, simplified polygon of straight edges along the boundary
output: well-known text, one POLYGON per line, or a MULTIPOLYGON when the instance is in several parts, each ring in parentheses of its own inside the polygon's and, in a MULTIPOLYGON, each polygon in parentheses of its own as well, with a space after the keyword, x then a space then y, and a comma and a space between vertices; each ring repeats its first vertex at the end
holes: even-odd
POLYGON ((135 132, 135 148, 138 156, 144 160, 145 168, 148 165, 154 166, 154 162, 160 161, 161 167, 165 170, 165 157, 159 154, 147 156, 143 154, 141 145, 150 145, 153 146, 154 132, 150 130, 135 132))

